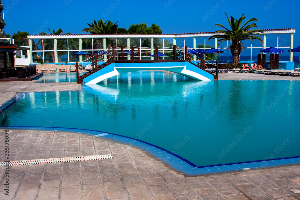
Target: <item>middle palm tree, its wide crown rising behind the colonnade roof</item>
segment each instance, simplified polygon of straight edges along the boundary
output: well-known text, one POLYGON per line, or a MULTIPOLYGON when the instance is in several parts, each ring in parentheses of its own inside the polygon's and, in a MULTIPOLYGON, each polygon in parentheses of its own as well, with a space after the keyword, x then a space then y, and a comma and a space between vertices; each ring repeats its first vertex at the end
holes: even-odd
MULTIPOLYGON (((119 21, 118 21, 119 22, 119 21)), ((125 28, 118 28, 117 22, 113 23, 109 20, 106 20, 103 22, 102 19, 100 19, 98 22, 94 20, 93 24, 88 23, 88 28, 83 28, 83 31, 86 31, 87 33, 91 34, 126 34, 127 30, 125 28)), ((107 40, 107 49, 109 49, 112 46, 113 40, 109 39, 107 40)), ((103 49, 103 40, 97 39, 96 43, 97 49, 103 49)))

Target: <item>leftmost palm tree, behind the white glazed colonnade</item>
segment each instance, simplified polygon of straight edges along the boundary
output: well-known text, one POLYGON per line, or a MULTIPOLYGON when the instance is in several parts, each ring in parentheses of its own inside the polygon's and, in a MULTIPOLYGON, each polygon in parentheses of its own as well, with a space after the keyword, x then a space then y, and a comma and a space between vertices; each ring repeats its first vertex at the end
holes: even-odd
MULTIPOLYGON (((53 32, 50 30, 50 28, 48 28, 49 32, 50 32, 50 35, 60 35, 60 34, 63 34, 63 31, 61 28, 58 28, 57 31, 54 31, 53 32)), ((65 35, 67 34, 71 34, 70 32, 67 32, 65 35)), ((41 32, 40 35, 49 35, 48 33, 45 33, 45 32, 41 32)), ((40 39, 38 41, 38 43, 35 45, 35 49, 36 50, 39 50, 38 46, 42 44, 42 39, 40 39)), ((58 49, 67 49, 67 40, 66 39, 60 39, 60 40, 57 40, 57 47, 58 49)), ((53 39, 44 39, 44 50, 54 50, 54 40, 53 39)), ((51 56, 52 58, 52 61, 54 62, 55 60, 55 56, 54 56, 55 52, 51 52, 51 53, 48 53, 45 55, 45 57, 47 56, 51 56)), ((58 56, 58 62, 60 62, 60 56, 58 56)))

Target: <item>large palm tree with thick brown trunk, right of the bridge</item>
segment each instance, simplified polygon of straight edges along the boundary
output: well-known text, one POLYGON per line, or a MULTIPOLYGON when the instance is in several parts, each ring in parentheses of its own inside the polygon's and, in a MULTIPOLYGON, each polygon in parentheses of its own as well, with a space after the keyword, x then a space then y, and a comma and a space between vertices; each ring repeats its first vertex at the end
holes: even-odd
MULTIPOLYGON (((226 12, 225 12, 225 14, 226 14, 226 12)), ((241 41, 248 40, 248 39, 253 41, 254 39, 258 39, 262 43, 262 39, 253 34, 262 36, 261 33, 263 33, 263 32, 258 29, 249 30, 250 28, 254 28, 254 27, 257 28, 256 23, 247 25, 247 23, 249 23, 249 22, 252 22, 252 21, 256 22, 257 21, 256 18, 248 19, 247 22, 245 22, 244 25, 241 26, 241 22, 246 18, 244 16, 244 14, 242 14, 241 18, 238 20, 234 20, 233 16, 231 16, 231 18, 229 19, 227 14, 226 14, 226 17, 228 19, 231 30, 229 28, 225 28, 225 26, 223 26, 222 24, 215 24, 215 26, 220 26, 220 27, 224 28, 225 30, 215 31, 214 33, 217 33, 217 34, 209 37, 208 41, 210 39, 214 39, 214 38, 221 38, 221 39, 219 39, 218 46, 223 41, 226 41, 226 40, 231 41, 232 44, 230 45, 229 48, 231 50, 232 60, 233 60, 234 64, 238 64, 240 61, 239 55, 240 55, 241 49, 242 49, 241 41)))

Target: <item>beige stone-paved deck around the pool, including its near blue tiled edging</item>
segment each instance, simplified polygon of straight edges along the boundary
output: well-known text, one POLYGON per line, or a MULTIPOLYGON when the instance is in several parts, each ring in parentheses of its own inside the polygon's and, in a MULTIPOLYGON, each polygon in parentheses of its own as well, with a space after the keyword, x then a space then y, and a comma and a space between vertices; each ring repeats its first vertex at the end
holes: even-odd
MULTIPOLYGON (((226 74, 228 75, 228 74, 226 74)), ((224 78, 225 75, 222 77, 224 78)), ((238 74, 227 76, 228 79, 248 79, 247 74, 238 74)), ((255 74, 250 75, 251 79, 260 79, 262 76, 271 76, 271 75, 261 75, 255 74), (254 77, 254 78, 253 78, 254 77), (256 78, 255 78, 256 77, 256 78)), ((280 76, 271 76, 276 79, 276 77, 280 76)), ((295 77, 300 80, 300 77, 295 77)), ((281 78, 280 78, 281 79, 281 78)), ((286 77, 289 79, 289 77, 286 77)), ((295 80, 295 79, 294 79, 295 80)), ((33 91, 76 91, 82 90, 82 85, 76 85, 74 82, 69 83, 35 83, 32 82, 7 82, 0 83, 0 105, 1 107, 6 107, 7 101, 13 101, 13 96, 18 92, 33 92, 33 91)), ((1 127, 4 128, 4 127, 1 127)), ((76 163, 64 163, 64 164, 45 164, 45 165, 31 165, 31 166, 20 166, 20 167, 10 167, 11 176, 16 173, 19 175, 19 180, 13 180, 11 183, 11 187, 13 188, 12 193, 14 195, 10 195, 9 198, 20 198, 20 199, 28 199, 30 197, 32 199, 43 199, 46 194, 43 189, 44 186, 49 186, 46 190, 58 191, 55 194, 50 192, 51 195, 45 199, 88 199, 88 195, 90 199, 97 199, 97 195, 99 195, 98 199, 122 199, 123 197, 134 199, 300 199, 300 193, 294 193, 290 191, 291 189, 299 189, 300 188, 300 166, 297 163, 300 163, 300 158, 285 158, 281 160, 266 160, 266 161, 255 161, 248 163, 231 163, 228 165, 222 166, 202 166, 197 167, 193 163, 189 163, 187 160, 183 158, 172 155, 171 152, 167 152, 166 150, 153 146, 151 144, 147 144, 143 141, 138 141, 131 138, 126 138, 123 136, 118 136, 110 133, 103 133, 92 130, 75 130, 75 129, 63 129, 63 128, 48 128, 46 132, 43 132, 40 127, 9 127, 8 128, 11 133, 14 135, 10 138, 10 141, 13 145, 10 144, 10 152, 13 152, 10 156, 12 160, 26 160, 26 159, 36 159, 36 158, 50 158, 50 157, 68 157, 68 156, 78 156, 80 155, 98 155, 98 154, 109 154, 112 153, 114 155, 113 161, 107 160, 98 160, 98 161, 82 161, 76 163), (14 129, 24 129, 24 130, 14 130, 14 129), (38 129, 38 131, 36 131, 38 129), (32 132, 28 130, 34 130, 32 132), (52 132, 49 132, 52 131, 52 132), (70 133, 73 132, 73 133, 70 133), (75 133, 74 133, 75 132, 75 133), (80 133, 88 134, 82 135, 80 133), (93 136, 92 136, 93 135, 93 136), (70 136, 70 137, 69 137, 70 136), (72 136, 72 137, 71 137, 72 136), (78 138, 79 142, 76 142, 78 138), (36 140, 35 138, 39 138, 36 140), (60 140, 56 144, 55 138, 60 138, 60 140), (100 137, 100 138, 99 138, 100 137), (16 139, 17 138, 17 139, 16 139), (21 139, 22 138, 22 139, 21 139), (31 138, 28 141, 28 139, 31 138), (45 138, 45 139, 44 139, 45 138), (52 138, 51 141, 49 138, 52 138), (73 138, 69 141, 68 138, 73 138), (85 146, 80 145, 80 138, 87 139, 93 144, 94 150, 91 150, 91 146, 85 144, 85 146), (42 139, 42 143, 40 140, 42 139), (44 142, 48 140, 48 142, 44 142), (76 140, 76 141, 75 141, 76 140), (100 143, 106 143, 105 147, 101 145, 95 145, 95 141, 101 141, 100 143), (71 144, 72 141, 75 141, 74 144, 71 144), (54 144, 61 146, 64 143, 64 146, 61 148, 55 147, 54 144), (48 144, 49 143, 49 144, 48 144), (67 145, 67 143, 70 143, 67 145), (33 145, 30 145, 33 144, 33 145), (44 144, 45 147, 41 144, 44 144), (49 146, 50 145, 50 146, 49 146), (116 146, 118 148, 112 150, 112 148, 107 148, 110 145, 116 146), (74 154, 65 154, 67 151, 67 146, 72 146, 70 153, 74 154), (37 151, 37 148, 39 150, 37 151), (42 148, 44 147, 44 148, 42 148), (64 147, 64 152, 62 152, 62 148, 64 147), (80 148, 79 148, 80 147, 80 148), (90 148, 91 151, 86 151, 85 148, 90 148), (99 151, 99 148, 103 151, 99 151), (119 149, 120 148, 120 149, 119 149), (13 150, 11 150, 13 149, 13 150), (41 149, 44 149, 45 152, 41 152, 41 149), (129 152, 129 149, 131 152, 129 152), (143 149, 143 150, 141 150, 143 149), (76 151, 75 151, 76 150, 76 151), (125 151, 124 151, 125 150, 125 151), (57 152, 56 152, 57 151, 57 152), (74 151, 74 152, 73 152, 74 151), (51 153, 50 153, 51 152, 51 153), (76 154, 75 154, 76 153, 76 154), (122 155, 121 153, 126 153, 122 155), (131 155, 134 154, 134 155, 131 155), (116 157, 116 155, 119 157, 116 157), (59 156, 58 156, 59 155, 59 156), (39 157, 40 156, 40 157, 39 157), (128 157, 126 162, 122 160, 124 157, 128 157), (136 157, 139 157, 138 159, 136 157), (160 159, 159 159, 159 158, 160 159), (118 161, 121 159, 121 163, 118 161), (113 162, 113 164, 109 164, 105 168, 106 164, 101 165, 101 163, 113 162), (143 165, 137 164, 138 162, 142 162, 143 165), (91 163, 91 164, 84 164, 91 163), (102 169, 99 167, 99 163, 102 169), (121 164, 121 165, 119 165, 121 164), (60 169, 61 174, 59 175, 59 180, 56 181, 55 187, 52 187, 51 183, 48 180, 44 180, 44 176, 47 176, 46 169, 53 168, 60 169), (74 169, 78 170, 76 173, 79 175, 79 179, 77 181, 66 181, 64 179, 64 166, 72 165, 74 169), (96 167, 98 165, 98 170, 96 167), (278 167, 278 165, 287 165, 278 167), (93 166, 89 169, 88 166, 93 166), (121 167, 120 167, 121 166, 121 167), (275 167, 277 166, 277 167, 275 167), (260 168, 263 167, 263 168, 260 168), (275 168, 274 168, 275 167, 275 168), (38 174, 29 175, 26 174, 28 169, 35 169, 39 171, 38 174), (130 168, 133 171, 122 174, 123 168, 130 168), (149 177, 143 176, 143 168, 146 168, 148 171, 146 173, 149 174, 149 177), (251 170, 244 171, 242 169, 250 168, 251 170), (258 169, 260 168, 260 169, 258 169), (100 182, 95 183, 95 185, 99 186, 88 186, 89 184, 84 184, 84 178, 82 177, 84 174, 83 170, 96 170, 93 173, 96 173, 98 177, 97 180, 100 182), (142 171, 140 171, 142 169, 142 171), (104 170, 102 172, 102 170, 104 170), (110 171, 109 171, 110 170, 110 171), (114 170, 113 174, 110 172, 114 170), (16 172, 15 172, 16 171, 16 172), (43 171, 43 172, 42 172, 43 171), (118 172, 118 173, 117 173, 118 172), (22 174, 23 173, 23 174, 22 174), (104 176, 102 176, 104 173, 104 176), (105 175, 105 173, 108 173, 105 175), (22 174, 22 175, 21 175, 22 174), (202 175, 199 175, 202 174, 202 175), (31 177, 35 176, 35 177, 31 177), (31 184, 32 178, 38 178, 35 181, 35 184, 31 184), (112 180, 117 178, 115 181, 105 181, 105 176, 111 177, 112 180), (126 184, 126 178, 129 177, 130 182, 134 182, 134 186, 130 184, 126 184), (26 179, 27 178, 27 179, 26 179), (104 178, 104 179, 103 179, 104 178), (134 179, 135 178, 135 179, 134 179), (149 180, 151 181, 149 182, 149 180), (158 181, 159 184, 155 181, 158 181), (171 179, 171 180, 170 180, 171 179), (25 182, 24 182, 25 180, 25 182), (170 180, 170 181, 169 181, 170 180), (29 184, 25 184, 30 182, 29 184), (138 181, 138 182, 137 182, 138 181), (148 181, 148 182, 147 182, 148 181), (154 182, 153 182, 154 181, 154 182), (59 185, 57 185, 59 182, 59 185), (62 183, 72 182, 69 186, 66 186, 62 183), (149 185, 154 184, 154 185, 149 185), (164 184, 163 184, 164 183, 164 184), (22 185, 26 185, 21 187, 22 185), (47 185, 50 184, 50 185, 47 185), (76 184, 76 185, 74 185, 76 184), (119 186, 115 186, 118 185, 119 186), (14 185, 14 186, 12 186, 14 185), (101 185, 101 186, 100 186, 101 185), (110 189, 108 186, 110 185, 110 189), (122 185, 122 187, 121 187, 122 185), (57 187, 56 187, 57 186, 57 187), (76 187, 75 187, 76 186, 76 187), (65 190, 65 187, 68 187, 69 190, 65 190), (91 190, 85 190, 84 188, 88 187, 91 190), (120 188, 122 189, 120 189, 120 188), (25 189, 24 189, 25 188, 25 189), (29 188, 29 189, 28 189, 29 188), (51 188, 51 189, 50 189, 51 188), (54 189, 55 188, 55 189, 54 189), (103 190, 104 188, 104 190, 103 190), (152 188, 152 189, 151 189, 152 188), (53 190, 52 190, 53 189, 53 190), (77 189, 81 190, 78 192, 77 189), (92 192, 97 190, 95 192, 92 192), (122 195, 118 196, 117 194, 122 195), (153 190, 153 191, 152 191, 153 190), (155 190, 155 191, 154 191, 155 190), (161 190, 161 191, 160 191, 161 190), (25 192, 24 192, 25 191, 25 192), (110 191, 112 193, 110 193, 110 191), (232 192, 231 192, 232 191, 232 192), (42 193, 42 195, 40 194, 42 193), (70 196, 66 196, 69 193, 70 196), (86 193, 86 194, 85 194, 86 193), (22 195, 23 194, 23 195, 22 195), (25 195, 26 194, 26 195, 25 195), (73 197, 72 197, 73 195, 73 197), (93 197, 93 195, 96 195, 93 197)), ((1 130, 1 137, 3 136, 4 131, 1 130)), ((0 142, 3 142, 3 138, 0 142)), ((85 142, 84 142, 85 143, 85 142)), ((0 143, 1 144, 1 143, 0 143)), ((3 152, 0 151, 0 155, 3 152)), ((0 158, 0 161, 4 161, 4 157, 0 158)), ((58 172, 59 170, 56 172, 58 172)), ((51 171, 51 170, 50 170, 51 171)), ((1 172, 3 172, 3 168, 1 168, 1 172)), ((51 172, 52 173, 52 172, 51 172)), ((75 173, 75 172, 66 172, 75 173)), ((55 175, 56 176, 56 175, 55 175)), ((58 175, 57 175, 58 176, 58 175)), ((65 175, 65 177, 72 177, 69 175, 65 175)), ((94 177, 94 176, 93 176, 94 177)), ((4 175, 2 173, 2 182, 4 175)), ((73 179, 72 179, 73 180, 73 179)), ((95 181, 94 181, 95 182, 95 181)), ((93 183, 94 183, 93 182, 93 183)), ((53 182, 54 183, 54 182, 53 182)), ((131 183, 133 184, 133 183, 131 183)), ((3 191, 3 184, 0 183, 0 191, 3 191)), ((91 184, 94 185, 94 184, 91 184)), ((46 188, 46 187, 45 187, 46 188)), ((10 194, 12 194, 10 193, 10 194)), ((1 194, 0 194, 1 195, 1 194)), ((7 198, 5 195, 4 199, 7 198)), ((29 199, 30 199, 29 198, 29 199)), ((1 199, 2 196, 1 196, 1 199)))

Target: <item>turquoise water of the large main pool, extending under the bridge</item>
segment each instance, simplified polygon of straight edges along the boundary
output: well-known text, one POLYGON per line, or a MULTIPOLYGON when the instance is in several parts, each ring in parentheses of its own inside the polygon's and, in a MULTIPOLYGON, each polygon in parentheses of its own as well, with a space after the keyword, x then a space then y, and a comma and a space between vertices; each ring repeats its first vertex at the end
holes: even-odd
POLYGON ((197 166, 300 155, 298 81, 115 76, 85 91, 26 93, 2 126, 99 130, 140 139, 197 166))

